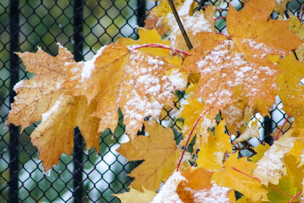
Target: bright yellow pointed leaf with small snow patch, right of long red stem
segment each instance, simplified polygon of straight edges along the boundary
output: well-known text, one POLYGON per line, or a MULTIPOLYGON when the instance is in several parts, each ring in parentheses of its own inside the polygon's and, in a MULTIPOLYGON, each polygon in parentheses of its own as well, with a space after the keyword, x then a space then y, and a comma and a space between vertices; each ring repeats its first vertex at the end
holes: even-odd
POLYGON ((215 126, 215 136, 209 131, 208 143, 202 143, 196 160, 198 167, 221 170, 226 152, 232 152, 230 136, 225 134, 225 121, 215 126))

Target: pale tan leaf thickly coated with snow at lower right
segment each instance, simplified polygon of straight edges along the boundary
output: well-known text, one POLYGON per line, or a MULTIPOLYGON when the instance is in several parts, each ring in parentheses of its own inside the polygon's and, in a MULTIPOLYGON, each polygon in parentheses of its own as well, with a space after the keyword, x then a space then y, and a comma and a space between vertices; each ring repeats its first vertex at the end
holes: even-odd
POLYGON ((268 185, 268 182, 277 185, 279 179, 286 174, 286 167, 283 158, 289 152, 295 138, 291 137, 291 131, 287 131, 280 139, 264 153, 264 156, 257 162, 257 168, 253 175, 261 180, 261 183, 268 185))

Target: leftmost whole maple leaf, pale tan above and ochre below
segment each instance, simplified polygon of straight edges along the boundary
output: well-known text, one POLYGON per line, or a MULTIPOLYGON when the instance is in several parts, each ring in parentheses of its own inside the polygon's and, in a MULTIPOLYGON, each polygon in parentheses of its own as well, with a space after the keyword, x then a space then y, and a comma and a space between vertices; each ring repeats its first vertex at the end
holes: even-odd
POLYGON ((22 125, 22 130, 29 124, 41 120, 30 135, 33 145, 39 150, 38 159, 42 160, 45 171, 57 165, 62 153, 71 155, 74 139, 73 132, 79 127, 84 136, 87 150, 94 147, 99 150, 97 126, 99 119, 91 116, 96 103, 88 105, 84 96, 64 96, 63 87, 66 80, 66 64, 77 65, 73 55, 59 45, 58 56, 52 57, 40 48, 36 53, 17 53, 26 66, 26 70, 36 76, 19 82, 15 86, 18 93, 9 123, 22 125), (75 119, 77 117, 77 119, 75 119))

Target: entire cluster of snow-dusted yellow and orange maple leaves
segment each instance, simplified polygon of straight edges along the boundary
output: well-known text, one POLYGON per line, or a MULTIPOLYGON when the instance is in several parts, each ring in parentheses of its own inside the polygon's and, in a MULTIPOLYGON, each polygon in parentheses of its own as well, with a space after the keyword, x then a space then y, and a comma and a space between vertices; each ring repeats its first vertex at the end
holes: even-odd
POLYGON ((23 130, 41 121, 31 141, 46 171, 71 155, 76 126, 98 152, 100 132, 114 131, 120 109, 130 141, 117 152, 143 160, 129 174, 130 191, 114 194, 122 202, 304 202, 304 26, 283 19, 287 2, 250 0, 240 11, 229 3, 225 35, 214 28, 215 6, 193 12, 195 1, 176 0, 189 51, 161 0, 139 40, 119 38, 90 61, 74 61, 60 44, 55 57, 40 48, 17 53, 36 76, 16 84, 8 123, 23 130), (270 18, 273 10, 280 20, 270 18), (179 109, 177 89, 185 90, 179 109), (269 115, 277 95, 293 124, 268 145, 252 118, 269 115), (164 106, 181 122, 180 143, 157 120, 164 106), (143 125, 146 135, 136 135, 143 125))

